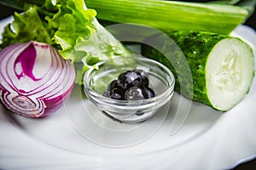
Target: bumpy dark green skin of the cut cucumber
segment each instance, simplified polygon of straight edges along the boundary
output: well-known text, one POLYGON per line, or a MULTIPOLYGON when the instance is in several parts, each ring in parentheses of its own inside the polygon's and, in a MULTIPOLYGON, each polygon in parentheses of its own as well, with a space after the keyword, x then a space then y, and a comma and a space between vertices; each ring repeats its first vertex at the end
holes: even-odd
MULTIPOLYGON (((195 31, 173 31, 166 34, 177 43, 180 49, 175 48, 175 45, 173 45, 172 49, 170 49, 170 46, 166 48, 166 41, 163 41, 161 36, 154 35, 154 41, 160 44, 159 47, 162 47, 160 51, 169 50, 168 55, 165 56, 159 50, 143 43, 143 56, 160 61, 160 63, 166 65, 173 72, 176 79, 175 90, 177 92, 183 94, 186 98, 212 106, 207 95, 207 59, 214 46, 227 37, 214 33, 195 31), (186 58, 189 68, 186 68, 187 66, 184 66, 183 63, 178 62, 183 56, 186 58), (191 78, 189 80, 188 69, 191 71, 192 81, 191 78)), ((145 42, 147 42, 147 39, 145 42)))

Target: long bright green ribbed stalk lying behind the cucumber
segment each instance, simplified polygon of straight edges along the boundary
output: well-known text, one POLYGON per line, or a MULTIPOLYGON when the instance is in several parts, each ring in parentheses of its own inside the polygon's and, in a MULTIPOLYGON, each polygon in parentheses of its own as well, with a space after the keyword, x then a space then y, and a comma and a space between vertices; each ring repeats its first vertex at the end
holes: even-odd
POLYGON ((249 14, 238 6, 162 0, 85 0, 100 20, 152 26, 161 31, 208 31, 228 35, 249 14))

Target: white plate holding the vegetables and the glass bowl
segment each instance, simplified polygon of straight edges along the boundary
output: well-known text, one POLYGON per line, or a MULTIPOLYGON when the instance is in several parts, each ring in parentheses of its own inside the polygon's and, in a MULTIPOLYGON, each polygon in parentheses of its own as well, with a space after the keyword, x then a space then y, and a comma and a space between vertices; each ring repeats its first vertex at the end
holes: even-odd
MULTIPOLYGON (((0 32, 9 20, 0 21, 0 32)), ((255 31, 247 26, 237 27, 233 35, 256 44, 255 31)), ((0 169, 235 167, 256 156, 255 101, 254 79, 250 93, 231 111, 190 105, 175 94, 170 105, 137 124, 102 116, 79 86, 59 111, 38 120, 0 105, 0 169)))

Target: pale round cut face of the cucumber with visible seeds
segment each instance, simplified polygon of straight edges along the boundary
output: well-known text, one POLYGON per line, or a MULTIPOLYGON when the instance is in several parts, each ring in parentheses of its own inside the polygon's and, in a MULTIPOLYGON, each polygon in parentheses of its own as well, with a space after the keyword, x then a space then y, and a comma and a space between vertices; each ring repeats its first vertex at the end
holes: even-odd
POLYGON ((207 95, 214 108, 228 111, 248 93, 254 65, 252 51, 237 38, 225 38, 207 59, 207 95))

